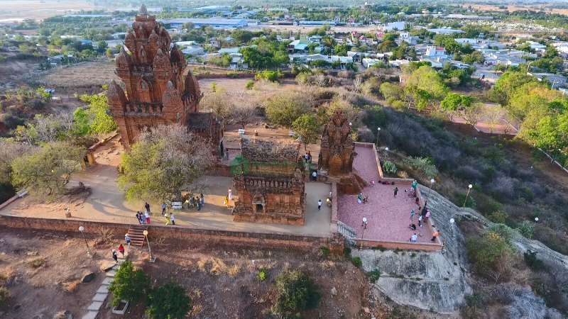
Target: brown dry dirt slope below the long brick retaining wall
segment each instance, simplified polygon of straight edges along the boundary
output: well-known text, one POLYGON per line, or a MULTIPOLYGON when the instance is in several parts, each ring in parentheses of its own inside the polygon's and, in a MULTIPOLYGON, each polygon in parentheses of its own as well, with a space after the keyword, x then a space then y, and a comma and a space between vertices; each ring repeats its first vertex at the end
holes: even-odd
MULTIPOLYGON (((97 235, 87 240, 94 251, 93 259, 87 257, 79 232, 2 229, 1 282, 11 297, 0 306, 0 318, 50 319, 61 310, 69 310, 75 318, 81 318, 105 277, 99 264, 110 262, 110 250, 120 239, 107 237, 105 241, 102 235, 97 235), (34 269, 31 261, 35 259, 43 259, 45 264, 34 269), (63 292, 61 283, 75 282, 87 272, 96 274, 94 282, 77 284, 71 293, 63 292)), ((178 280, 192 297, 190 318, 262 318, 275 298, 273 279, 289 269, 309 273, 321 288, 320 307, 305 313, 304 318, 371 318, 362 309, 368 298, 365 276, 344 257, 320 257, 317 252, 211 247, 167 238, 150 240, 157 257, 155 263, 146 262, 146 246, 127 247, 129 259, 151 276, 153 284, 178 280), (252 260, 256 269, 268 269, 266 281, 258 281, 256 270, 250 267, 252 260), (332 296, 333 287, 337 296, 332 296)), ((109 302, 107 298, 97 318, 116 318, 111 315, 109 302)), ((139 305, 130 308, 123 318, 142 315, 143 305, 139 305)))

